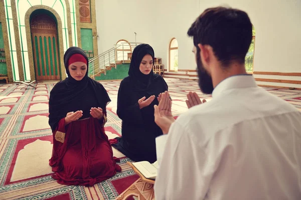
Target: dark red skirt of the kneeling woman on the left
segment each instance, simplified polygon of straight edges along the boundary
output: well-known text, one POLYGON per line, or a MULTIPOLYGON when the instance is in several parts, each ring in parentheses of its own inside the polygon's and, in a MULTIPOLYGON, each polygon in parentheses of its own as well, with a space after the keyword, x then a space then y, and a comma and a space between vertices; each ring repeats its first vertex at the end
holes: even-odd
POLYGON ((53 132, 49 164, 55 172, 52 177, 60 184, 92 186, 121 171, 116 160, 104 128, 93 117, 67 126, 63 118, 53 132), (55 139, 57 130, 66 133, 64 142, 55 139))

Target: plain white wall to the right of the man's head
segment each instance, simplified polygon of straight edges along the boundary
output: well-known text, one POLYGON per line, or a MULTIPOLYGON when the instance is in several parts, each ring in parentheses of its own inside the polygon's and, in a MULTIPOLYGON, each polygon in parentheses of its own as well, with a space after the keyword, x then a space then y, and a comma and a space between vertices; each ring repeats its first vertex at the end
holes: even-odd
MULTIPOLYGON (((227 0, 227 3, 245 10, 255 27, 253 71, 301 72, 300 0, 227 0)), ((204 7, 219 4, 220 0, 211 0, 204 7)), ((254 77, 301 80, 300 76, 254 74, 254 77)), ((301 87, 300 84, 261 81, 257 84, 301 87)))

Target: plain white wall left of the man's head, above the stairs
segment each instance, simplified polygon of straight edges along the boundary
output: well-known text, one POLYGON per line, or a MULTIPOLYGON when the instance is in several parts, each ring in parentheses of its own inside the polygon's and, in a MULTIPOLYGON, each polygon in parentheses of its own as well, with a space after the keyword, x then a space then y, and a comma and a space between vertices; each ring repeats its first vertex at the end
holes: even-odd
POLYGON ((155 56, 168 68, 170 40, 179 42, 179 68, 196 69, 193 42, 187 30, 199 14, 199 0, 96 0, 98 50, 103 52, 119 39, 149 43, 155 56))

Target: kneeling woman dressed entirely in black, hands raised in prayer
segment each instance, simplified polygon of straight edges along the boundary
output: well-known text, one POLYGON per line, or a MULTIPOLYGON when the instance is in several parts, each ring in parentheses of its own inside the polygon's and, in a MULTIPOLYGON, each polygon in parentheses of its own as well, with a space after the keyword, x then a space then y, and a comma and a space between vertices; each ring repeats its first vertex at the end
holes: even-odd
POLYGON ((155 123, 154 105, 159 94, 168 90, 162 76, 153 73, 155 53, 148 44, 137 45, 132 53, 128 76, 119 86, 117 115, 122 119, 122 137, 110 140, 112 146, 134 161, 155 162, 155 138, 162 135, 155 123))

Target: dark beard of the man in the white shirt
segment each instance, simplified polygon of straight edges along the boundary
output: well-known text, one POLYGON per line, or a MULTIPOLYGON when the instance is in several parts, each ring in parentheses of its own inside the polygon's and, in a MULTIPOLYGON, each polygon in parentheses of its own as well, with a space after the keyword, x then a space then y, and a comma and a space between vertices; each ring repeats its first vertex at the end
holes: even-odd
POLYGON ((197 71, 199 76, 199 86, 201 91, 205 94, 212 94, 213 92, 213 83, 212 78, 209 73, 204 68, 202 59, 200 56, 200 50, 197 50, 197 71))

